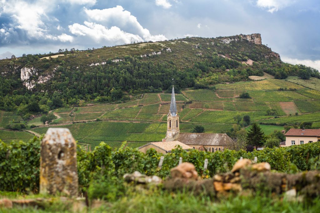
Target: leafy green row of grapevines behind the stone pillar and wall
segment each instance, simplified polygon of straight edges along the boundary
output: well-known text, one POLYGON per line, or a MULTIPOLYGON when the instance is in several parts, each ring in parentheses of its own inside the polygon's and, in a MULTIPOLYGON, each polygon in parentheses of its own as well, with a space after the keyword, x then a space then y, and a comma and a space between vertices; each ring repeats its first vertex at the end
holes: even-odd
MULTIPOLYGON (((196 166, 200 175, 212 177, 216 173, 231 170, 240 158, 254 159, 258 162, 268 162, 272 169, 288 171, 297 168, 300 171, 310 170, 309 160, 320 154, 320 142, 284 148, 266 148, 262 151, 225 150, 224 152, 204 152, 193 149, 186 152, 180 148, 174 149, 164 156, 162 168, 158 163, 162 154, 149 149, 146 154, 125 147, 118 150, 101 142, 92 152, 82 149, 77 151, 77 166, 79 186, 85 188, 90 181, 103 176, 122 178, 125 173, 140 171, 147 175, 158 175, 165 178, 170 175, 170 169, 177 166, 179 158, 196 166), (208 159, 208 168, 204 170, 204 159, 208 159)), ((33 191, 39 187, 40 139, 29 142, 12 141, 6 144, 0 141, 0 190, 1 191, 33 191)))

